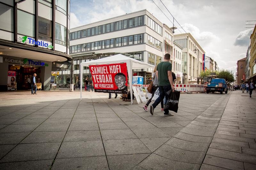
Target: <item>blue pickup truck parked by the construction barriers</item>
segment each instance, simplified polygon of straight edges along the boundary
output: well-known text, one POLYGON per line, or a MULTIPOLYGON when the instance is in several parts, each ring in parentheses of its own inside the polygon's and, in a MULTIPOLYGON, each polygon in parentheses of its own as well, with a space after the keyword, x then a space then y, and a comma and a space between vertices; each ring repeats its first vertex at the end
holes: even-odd
POLYGON ((226 80, 223 78, 214 78, 212 79, 211 83, 207 84, 207 87, 205 88, 206 93, 208 94, 209 92, 220 92, 222 94, 225 92, 226 94, 228 93, 228 85, 226 83, 226 80))

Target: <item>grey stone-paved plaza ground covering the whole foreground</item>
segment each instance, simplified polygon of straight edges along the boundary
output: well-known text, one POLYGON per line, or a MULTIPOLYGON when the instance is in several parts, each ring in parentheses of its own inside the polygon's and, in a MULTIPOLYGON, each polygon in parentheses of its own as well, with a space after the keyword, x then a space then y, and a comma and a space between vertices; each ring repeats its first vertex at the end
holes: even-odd
POLYGON ((107 93, 0 93, 0 169, 256 169, 256 93, 181 94, 152 116, 107 93))

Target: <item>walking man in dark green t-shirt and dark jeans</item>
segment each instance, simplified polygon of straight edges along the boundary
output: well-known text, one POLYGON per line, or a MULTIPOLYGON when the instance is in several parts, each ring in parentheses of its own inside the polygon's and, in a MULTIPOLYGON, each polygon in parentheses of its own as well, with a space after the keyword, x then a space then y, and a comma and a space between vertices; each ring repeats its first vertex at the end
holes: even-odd
MULTIPOLYGON (((151 115, 154 114, 154 108, 161 102, 161 100, 168 99, 168 92, 169 90, 174 90, 173 82, 172 82, 172 64, 169 62, 171 55, 166 53, 164 55, 164 61, 159 63, 156 68, 156 77, 158 78, 158 88, 160 95, 156 99, 156 101, 150 106, 150 113, 151 115)), ((173 116, 169 113, 168 109, 164 109, 165 116, 173 116)))

